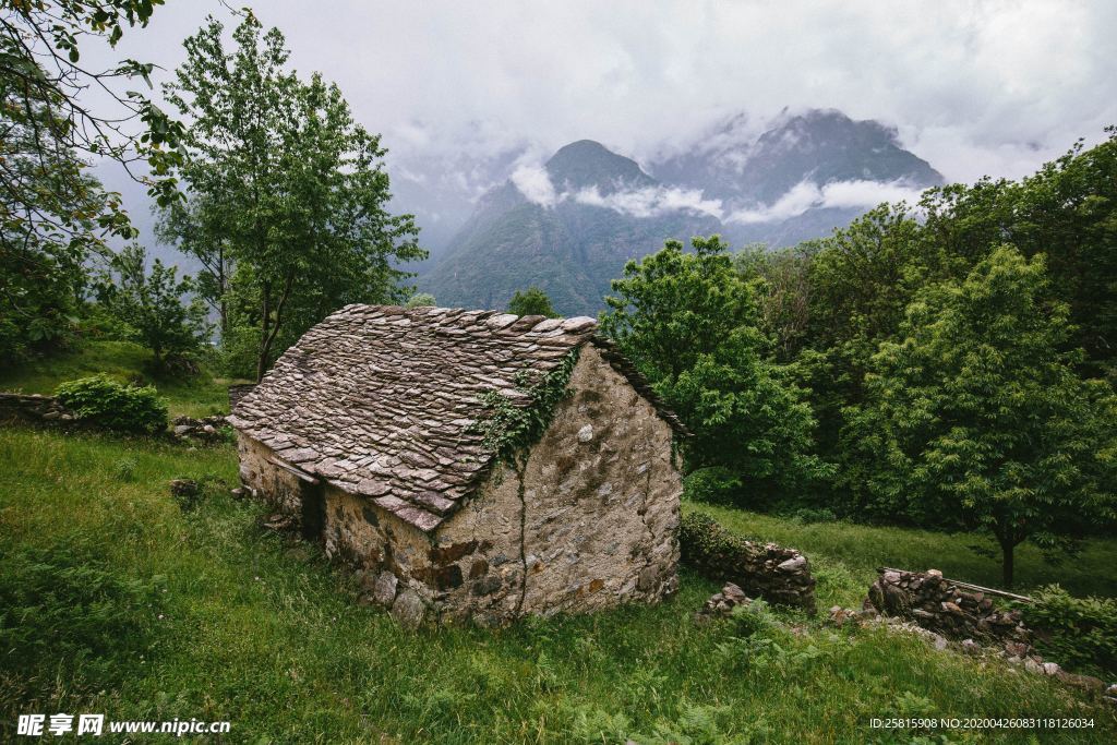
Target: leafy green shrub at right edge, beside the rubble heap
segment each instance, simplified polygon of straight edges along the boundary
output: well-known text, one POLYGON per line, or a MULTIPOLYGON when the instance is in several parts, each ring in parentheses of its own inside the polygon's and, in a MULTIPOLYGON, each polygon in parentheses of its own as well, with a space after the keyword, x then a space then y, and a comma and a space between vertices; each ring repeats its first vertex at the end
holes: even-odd
POLYGON ((1024 611, 1044 657, 1071 669, 1117 674, 1117 599, 1073 598, 1057 584, 1043 588, 1024 611))

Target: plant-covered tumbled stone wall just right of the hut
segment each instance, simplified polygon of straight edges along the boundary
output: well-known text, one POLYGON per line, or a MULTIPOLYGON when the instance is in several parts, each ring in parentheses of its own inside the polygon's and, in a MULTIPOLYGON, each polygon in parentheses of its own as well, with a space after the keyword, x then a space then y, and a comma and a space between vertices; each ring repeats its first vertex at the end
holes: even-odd
POLYGON ((815 612, 811 566, 794 548, 745 541, 700 513, 682 518, 679 548, 682 561, 703 576, 732 582, 754 598, 815 612))

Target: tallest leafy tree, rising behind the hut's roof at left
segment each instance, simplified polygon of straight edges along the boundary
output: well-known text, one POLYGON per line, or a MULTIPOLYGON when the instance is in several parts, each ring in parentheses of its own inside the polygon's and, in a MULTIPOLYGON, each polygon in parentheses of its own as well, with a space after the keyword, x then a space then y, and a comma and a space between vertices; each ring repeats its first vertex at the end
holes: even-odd
POLYGON ((288 71, 283 34, 265 34, 250 12, 233 31, 235 50, 225 49, 222 31, 211 18, 187 39, 168 98, 192 122, 180 171, 194 218, 228 241, 206 239, 199 249, 222 266, 225 296, 237 299, 230 335, 256 328, 258 380, 341 305, 402 300, 398 283, 408 275, 394 266, 426 251, 411 216, 385 211, 384 151, 353 121, 337 86, 288 71), (216 256, 226 249, 228 259, 216 256))

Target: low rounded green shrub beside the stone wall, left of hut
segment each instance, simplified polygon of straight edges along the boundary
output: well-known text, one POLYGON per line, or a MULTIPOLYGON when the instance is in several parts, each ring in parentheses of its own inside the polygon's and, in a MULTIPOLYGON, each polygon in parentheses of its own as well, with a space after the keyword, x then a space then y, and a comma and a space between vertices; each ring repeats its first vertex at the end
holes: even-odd
POLYGON ((94 375, 63 383, 55 394, 77 419, 97 427, 146 434, 166 429, 166 402, 151 385, 123 385, 94 375))

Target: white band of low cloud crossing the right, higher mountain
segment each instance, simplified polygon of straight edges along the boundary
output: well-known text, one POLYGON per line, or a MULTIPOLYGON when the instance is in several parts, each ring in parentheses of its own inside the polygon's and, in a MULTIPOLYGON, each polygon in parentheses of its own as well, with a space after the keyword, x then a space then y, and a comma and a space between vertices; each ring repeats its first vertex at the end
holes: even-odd
POLYGON ((881 202, 901 201, 914 204, 922 193, 922 189, 904 181, 836 181, 823 187, 801 181, 771 204, 736 210, 725 220, 744 225, 777 222, 825 207, 870 208, 881 202))

